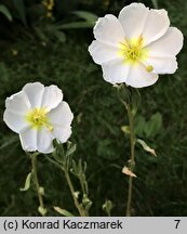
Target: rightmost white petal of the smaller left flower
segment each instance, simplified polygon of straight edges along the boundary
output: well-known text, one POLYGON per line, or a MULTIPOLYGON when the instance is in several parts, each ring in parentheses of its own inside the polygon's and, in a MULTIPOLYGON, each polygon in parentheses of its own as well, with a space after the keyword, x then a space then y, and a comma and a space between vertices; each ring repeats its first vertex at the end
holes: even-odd
POLYGON ((52 125, 70 126, 74 115, 67 102, 61 102, 56 108, 48 114, 48 117, 52 125))

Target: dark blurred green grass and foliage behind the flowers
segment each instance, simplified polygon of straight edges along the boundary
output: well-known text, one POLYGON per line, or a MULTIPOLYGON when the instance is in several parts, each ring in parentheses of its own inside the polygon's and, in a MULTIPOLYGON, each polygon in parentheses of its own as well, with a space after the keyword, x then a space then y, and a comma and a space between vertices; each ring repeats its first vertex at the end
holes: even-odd
MULTIPOLYGON (((2 121, 4 100, 18 92, 27 82, 55 83, 75 113, 71 141, 77 143, 75 157, 86 161, 86 178, 93 200, 92 216, 105 216, 103 205, 112 202, 111 216, 123 216, 128 180, 121 169, 129 158, 129 136, 121 127, 128 125, 126 113, 105 82, 101 67, 88 52, 93 40, 90 28, 65 29, 63 25, 85 23, 80 12, 103 16, 118 12, 130 0, 56 0, 52 17, 41 1, 2 0, 13 22, 0 14, 0 214, 37 216, 35 191, 22 192, 30 171, 18 136, 2 121), (16 3, 15 5, 15 2, 16 3), (79 15, 72 12, 79 11, 79 15), (51 28, 50 28, 51 27, 51 28), (37 31, 36 28, 39 28, 37 31), (50 29, 49 29, 50 28, 50 29), (59 31, 61 35, 55 36, 59 31), (43 36, 43 35, 44 36, 43 36)), ((171 25, 187 36, 187 2, 183 0, 139 1, 150 8, 158 4, 169 12, 171 25)), ((85 15, 84 15, 85 16, 85 15)), ((93 22, 92 22, 93 24, 93 22)), ((155 147, 158 157, 136 146, 137 179, 133 188, 135 216, 187 216, 187 44, 178 55, 179 69, 160 76, 149 88, 141 89, 142 102, 136 131, 155 147), (145 128, 143 128, 143 126, 145 128)), ((68 186, 58 169, 39 156, 39 179, 45 188, 49 216, 59 206, 74 213, 68 186)), ((75 179, 77 190, 79 185, 75 179)))

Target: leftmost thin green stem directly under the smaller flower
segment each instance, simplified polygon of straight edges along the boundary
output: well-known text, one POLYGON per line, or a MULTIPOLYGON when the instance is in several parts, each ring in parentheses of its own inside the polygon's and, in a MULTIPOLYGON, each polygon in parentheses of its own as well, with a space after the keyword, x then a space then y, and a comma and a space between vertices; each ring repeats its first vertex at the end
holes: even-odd
POLYGON ((39 199, 40 207, 42 209, 44 209, 43 197, 42 197, 42 194, 40 193, 40 185, 39 185, 38 173, 37 173, 37 155, 38 154, 30 155, 31 166, 32 166, 32 173, 34 173, 34 182, 35 182, 36 190, 37 190, 37 193, 38 193, 38 199, 39 199))

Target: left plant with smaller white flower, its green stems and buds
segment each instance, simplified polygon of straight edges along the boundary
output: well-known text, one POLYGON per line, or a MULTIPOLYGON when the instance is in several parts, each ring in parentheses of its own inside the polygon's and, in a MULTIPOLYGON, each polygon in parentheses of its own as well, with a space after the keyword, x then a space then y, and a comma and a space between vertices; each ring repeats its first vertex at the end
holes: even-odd
MULTIPOLYGON (((84 168, 81 164, 79 170, 76 171, 77 162, 71 160, 76 146, 69 142, 66 147, 62 145, 71 134, 72 118, 69 105, 63 101, 62 90, 56 86, 44 87, 40 82, 27 83, 21 92, 5 100, 3 119, 14 132, 18 133, 22 147, 30 156, 32 165, 23 190, 29 188, 30 178, 32 178, 40 203, 38 210, 42 216, 46 213, 43 204, 44 188, 39 185, 36 164, 39 154, 49 153, 53 153, 53 159, 49 155, 46 158, 64 171, 75 205, 79 213, 84 214, 84 209, 75 196, 69 176, 70 169, 76 176, 78 172, 84 174, 84 168)), ((86 181, 82 183, 85 186, 86 181)), ((84 192, 84 196, 86 195, 88 191, 84 192)), ((85 202, 90 203, 88 196, 85 198, 85 202)), ((63 212, 59 208, 56 210, 63 212)), ((66 211, 64 212, 67 214, 66 211)))

